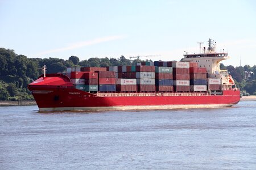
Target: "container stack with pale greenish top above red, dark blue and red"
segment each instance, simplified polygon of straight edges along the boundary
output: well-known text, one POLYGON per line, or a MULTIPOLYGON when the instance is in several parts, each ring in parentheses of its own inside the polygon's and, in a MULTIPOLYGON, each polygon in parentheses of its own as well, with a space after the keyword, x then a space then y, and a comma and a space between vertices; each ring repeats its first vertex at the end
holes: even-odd
POLYGON ((158 92, 174 91, 174 80, 172 79, 172 67, 155 67, 155 85, 158 92))

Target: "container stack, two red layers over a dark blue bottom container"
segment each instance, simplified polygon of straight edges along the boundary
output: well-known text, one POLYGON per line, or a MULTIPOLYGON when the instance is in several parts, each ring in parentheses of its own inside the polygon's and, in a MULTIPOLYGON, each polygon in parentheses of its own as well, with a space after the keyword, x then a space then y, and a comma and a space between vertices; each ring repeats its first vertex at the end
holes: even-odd
POLYGON ((97 71, 98 72, 98 91, 116 91, 115 71, 97 71))

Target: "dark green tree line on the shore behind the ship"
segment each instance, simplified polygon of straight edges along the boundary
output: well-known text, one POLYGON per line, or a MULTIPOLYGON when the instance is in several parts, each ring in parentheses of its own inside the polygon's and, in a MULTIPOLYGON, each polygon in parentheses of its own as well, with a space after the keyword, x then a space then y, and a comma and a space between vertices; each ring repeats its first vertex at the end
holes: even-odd
MULTIPOLYGON (((16 54, 12 49, 0 48, 0 100, 33 100, 27 85, 43 74, 43 65, 47 65, 47 73, 57 73, 65 71, 67 67, 122 66, 135 65, 138 62, 145 61, 139 57, 132 60, 124 56, 118 59, 93 57, 82 61, 76 56, 71 56, 67 60, 51 57, 28 58, 22 54, 16 54)), ((256 73, 255 65, 233 67, 221 64, 221 69, 229 71, 237 87, 243 91, 243 95, 256 95, 256 75, 251 74, 250 79, 245 79, 245 71, 256 73)))

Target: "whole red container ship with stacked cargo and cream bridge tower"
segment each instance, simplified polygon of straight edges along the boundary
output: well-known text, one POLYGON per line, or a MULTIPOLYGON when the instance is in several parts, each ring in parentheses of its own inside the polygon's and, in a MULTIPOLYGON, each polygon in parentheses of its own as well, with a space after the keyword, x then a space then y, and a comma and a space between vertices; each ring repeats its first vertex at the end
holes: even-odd
POLYGON ((209 39, 207 49, 180 61, 70 67, 56 74, 46 74, 44 66, 28 89, 42 112, 230 107, 240 101, 240 90, 220 69, 228 58, 209 39))

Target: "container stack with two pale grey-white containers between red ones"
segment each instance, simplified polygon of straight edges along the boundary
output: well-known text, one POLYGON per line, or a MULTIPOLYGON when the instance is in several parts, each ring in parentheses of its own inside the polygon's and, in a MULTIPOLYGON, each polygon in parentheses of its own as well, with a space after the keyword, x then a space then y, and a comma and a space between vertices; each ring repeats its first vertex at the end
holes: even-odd
POLYGON ((155 66, 136 66, 137 89, 139 92, 155 92, 155 66))

